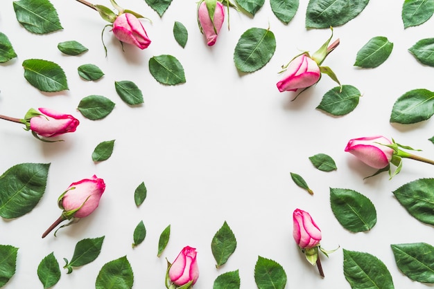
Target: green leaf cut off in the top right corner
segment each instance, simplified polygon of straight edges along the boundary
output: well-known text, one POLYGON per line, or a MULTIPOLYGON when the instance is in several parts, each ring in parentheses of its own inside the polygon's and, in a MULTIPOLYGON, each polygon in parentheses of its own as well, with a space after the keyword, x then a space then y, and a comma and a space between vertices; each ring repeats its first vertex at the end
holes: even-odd
POLYGON ((404 29, 423 24, 433 13, 434 0, 405 0, 401 13, 404 29))

